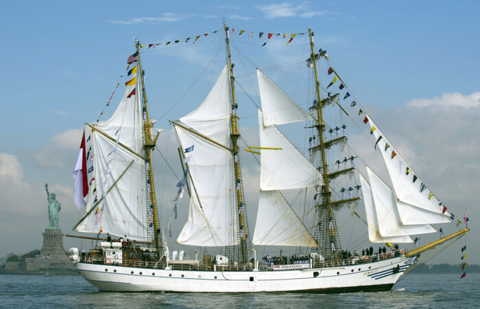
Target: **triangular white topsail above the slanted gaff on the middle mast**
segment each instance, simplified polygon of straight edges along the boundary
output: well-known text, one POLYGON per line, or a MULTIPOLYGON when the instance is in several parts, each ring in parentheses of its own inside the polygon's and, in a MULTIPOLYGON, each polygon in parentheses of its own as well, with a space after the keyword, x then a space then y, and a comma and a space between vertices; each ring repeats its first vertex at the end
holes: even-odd
POLYGON ((230 147, 228 124, 232 106, 228 76, 227 66, 225 66, 203 103, 193 112, 180 118, 180 121, 221 145, 230 147))

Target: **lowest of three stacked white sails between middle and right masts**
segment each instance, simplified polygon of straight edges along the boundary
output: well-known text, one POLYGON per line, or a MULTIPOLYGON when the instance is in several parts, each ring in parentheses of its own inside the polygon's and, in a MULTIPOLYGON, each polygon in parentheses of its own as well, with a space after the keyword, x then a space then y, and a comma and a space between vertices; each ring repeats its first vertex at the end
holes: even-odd
POLYGON ((318 247, 302 221, 277 190, 260 192, 252 244, 318 247))

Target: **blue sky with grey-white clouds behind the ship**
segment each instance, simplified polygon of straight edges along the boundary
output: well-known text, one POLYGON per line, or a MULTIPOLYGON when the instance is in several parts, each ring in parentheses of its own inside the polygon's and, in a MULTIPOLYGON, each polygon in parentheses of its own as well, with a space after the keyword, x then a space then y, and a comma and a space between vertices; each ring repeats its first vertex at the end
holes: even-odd
MULTIPOLYGON (((59 220, 64 233, 82 217, 73 204, 71 177, 82 126, 94 122, 104 108, 102 119, 115 110, 122 88, 108 108, 106 101, 115 85, 125 82, 120 75, 134 52, 134 38, 142 44, 164 43, 155 49, 144 47, 141 57, 150 117, 158 119, 156 127, 165 129, 158 149, 180 175, 178 146, 168 119, 179 119, 195 109, 224 66, 223 33, 211 34, 221 30, 223 17, 230 28, 246 31, 232 35, 230 47, 240 85, 239 116, 245 141, 259 143, 256 67, 301 106, 310 99, 304 65, 309 57, 307 36, 296 36, 288 46, 289 36, 274 36, 262 47, 266 33, 300 34, 311 27, 315 48, 327 50, 331 57, 326 65, 335 68, 352 97, 403 150, 414 171, 457 218, 467 210, 472 230, 431 260, 461 262, 459 248, 480 236, 476 227, 480 217, 480 3, 331 2, 139 1, 132 7, 131 1, 1 1, 0 256, 41 246, 41 232, 49 224, 45 183, 62 203, 59 220), (259 32, 265 32, 263 38, 259 32), (210 34, 204 37, 206 33, 210 34), (202 37, 195 44, 173 43, 197 35, 202 37), (165 47, 168 41, 172 43, 165 47)), ((328 84, 329 78, 324 74, 322 84, 328 84)), ((367 129, 355 118, 356 112, 350 113, 349 145, 370 162, 374 157, 368 144, 371 138, 368 132, 365 137, 367 129)), ((327 120, 339 121, 334 116, 327 120)), ((283 132, 290 134, 289 128, 283 132)), ((302 134, 290 137, 299 147, 308 139, 302 134)), ((241 156, 243 177, 249 180, 245 195, 252 205, 252 229, 259 168, 254 158, 241 156)), ((154 167, 158 199, 171 210, 177 178, 162 159, 154 167)), ((181 218, 187 213, 186 201, 180 208, 181 218)), ((340 222, 350 229, 349 214, 341 216, 340 222)), ((165 217, 168 221, 168 211, 165 217)), ((180 221, 174 224, 174 236, 181 227, 180 221)), ((454 223, 443 228, 446 234, 457 230, 454 223)), ((365 246, 366 238, 355 239, 357 231, 365 238, 366 227, 355 225, 342 236, 344 247, 365 246)), ((427 243, 437 234, 421 238, 427 243)), ((86 246, 78 240, 64 241, 67 248, 86 246)), ((469 243, 468 262, 479 264, 480 249, 469 243)))

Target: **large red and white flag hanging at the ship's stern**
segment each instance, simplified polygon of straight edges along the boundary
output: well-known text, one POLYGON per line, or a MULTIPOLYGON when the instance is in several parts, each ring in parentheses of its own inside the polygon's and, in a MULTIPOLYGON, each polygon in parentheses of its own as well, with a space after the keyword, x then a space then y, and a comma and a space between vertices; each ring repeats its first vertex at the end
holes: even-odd
POLYGON ((86 195, 88 194, 88 179, 86 175, 86 156, 85 156, 85 132, 82 136, 82 144, 77 155, 77 161, 72 172, 75 178, 75 186, 73 187, 73 201, 78 209, 86 206, 86 195))

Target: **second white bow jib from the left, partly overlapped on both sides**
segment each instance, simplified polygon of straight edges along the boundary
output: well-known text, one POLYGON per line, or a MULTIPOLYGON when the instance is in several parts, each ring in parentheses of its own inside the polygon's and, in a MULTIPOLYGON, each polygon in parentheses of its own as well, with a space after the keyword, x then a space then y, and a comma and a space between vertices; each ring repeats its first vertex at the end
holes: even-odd
POLYGON ((428 224, 403 225, 400 221, 400 215, 398 214, 396 199, 392 189, 368 166, 367 172, 374 200, 376 220, 379 223, 381 236, 407 236, 433 233, 436 231, 428 224))

